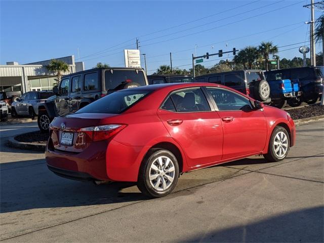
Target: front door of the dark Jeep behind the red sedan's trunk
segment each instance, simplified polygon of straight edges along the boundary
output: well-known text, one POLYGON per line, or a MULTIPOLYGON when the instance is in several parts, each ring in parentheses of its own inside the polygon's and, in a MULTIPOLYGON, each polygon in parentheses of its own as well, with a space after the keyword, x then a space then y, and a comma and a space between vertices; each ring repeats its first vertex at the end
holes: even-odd
POLYGON ((56 96, 56 109, 59 115, 67 115, 70 112, 69 108, 69 90, 70 78, 66 77, 61 80, 59 94, 56 96))

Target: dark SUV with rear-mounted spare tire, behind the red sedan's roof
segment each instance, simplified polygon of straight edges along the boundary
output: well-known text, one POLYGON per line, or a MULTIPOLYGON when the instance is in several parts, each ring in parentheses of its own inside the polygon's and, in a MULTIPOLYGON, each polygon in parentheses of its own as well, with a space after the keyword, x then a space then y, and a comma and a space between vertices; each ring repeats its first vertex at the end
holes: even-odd
POLYGON ((210 73, 195 77, 195 82, 214 83, 228 86, 250 97, 270 103, 270 86, 262 70, 239 70, 210 73))

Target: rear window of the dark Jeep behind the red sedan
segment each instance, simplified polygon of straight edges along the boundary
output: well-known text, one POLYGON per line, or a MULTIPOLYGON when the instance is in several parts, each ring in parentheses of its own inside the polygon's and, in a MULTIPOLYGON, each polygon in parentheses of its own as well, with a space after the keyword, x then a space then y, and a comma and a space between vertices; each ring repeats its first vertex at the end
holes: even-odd
POLYGON ((105 89, 106 90, 116 90, 120 89, 121 86, 125 84, 134 84, 134 86, 144 86, 145 76, 143 71, 135 70, 110 70, 105 71, 105 89))

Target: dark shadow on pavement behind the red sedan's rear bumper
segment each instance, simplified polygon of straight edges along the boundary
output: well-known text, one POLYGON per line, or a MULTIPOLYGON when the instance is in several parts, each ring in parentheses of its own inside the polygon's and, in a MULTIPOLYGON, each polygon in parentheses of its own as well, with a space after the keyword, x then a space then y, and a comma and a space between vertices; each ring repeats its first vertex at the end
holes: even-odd
POLYGON ((61 178, 44 159, 1 164, 0 213, 123 203, 146 199, 135 183, 95 185, 61 178))

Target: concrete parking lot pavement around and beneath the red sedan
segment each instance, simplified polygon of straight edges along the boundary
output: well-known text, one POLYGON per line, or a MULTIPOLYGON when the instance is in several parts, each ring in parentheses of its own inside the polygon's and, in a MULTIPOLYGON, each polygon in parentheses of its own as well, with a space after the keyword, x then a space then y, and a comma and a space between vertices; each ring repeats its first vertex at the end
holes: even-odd
POLYGON ((182 175, 147 200, 133 183, 96 186, 50 172, 41 152, 6 146, 35 123, 0 127, 4 242, 323 242, 324 122, 297 127, 279 163, 262 156, 182 175))

